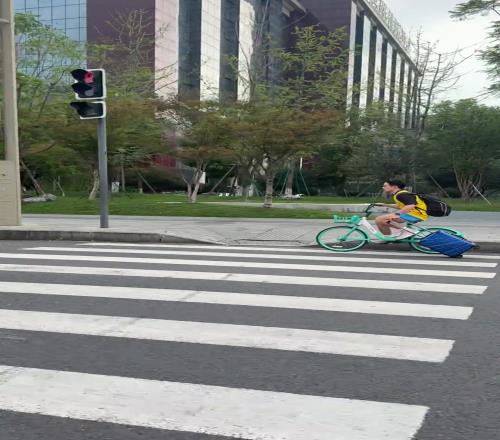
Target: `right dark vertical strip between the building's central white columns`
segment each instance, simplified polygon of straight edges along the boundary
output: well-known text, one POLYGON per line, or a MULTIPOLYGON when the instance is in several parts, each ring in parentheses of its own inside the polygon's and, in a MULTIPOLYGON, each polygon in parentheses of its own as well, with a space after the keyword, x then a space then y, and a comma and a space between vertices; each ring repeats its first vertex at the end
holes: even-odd
POLYGON ((222 0, 220 44, 220 99, 234 101, 238 98, 240 0, 222 0))

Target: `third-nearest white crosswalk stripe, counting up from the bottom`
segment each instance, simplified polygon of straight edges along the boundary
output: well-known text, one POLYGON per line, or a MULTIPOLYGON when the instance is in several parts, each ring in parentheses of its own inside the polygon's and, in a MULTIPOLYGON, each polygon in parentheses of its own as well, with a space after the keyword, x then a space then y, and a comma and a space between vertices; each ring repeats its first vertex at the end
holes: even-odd
MULTIPOLYGON (((359 301, 281 295, 257 295, 237 292, 148 289, 140 287, 91 286, 75 284, 37 284, 0 282, 0 292, 91 298, 177 301, 250 307, 317 310, 326 312, 367 313, 414 316, 420 318, 469 319, 473 307, 412 304, 384 301, 359 301)), ((1 294, 1 293, 0 293, 1 294)))

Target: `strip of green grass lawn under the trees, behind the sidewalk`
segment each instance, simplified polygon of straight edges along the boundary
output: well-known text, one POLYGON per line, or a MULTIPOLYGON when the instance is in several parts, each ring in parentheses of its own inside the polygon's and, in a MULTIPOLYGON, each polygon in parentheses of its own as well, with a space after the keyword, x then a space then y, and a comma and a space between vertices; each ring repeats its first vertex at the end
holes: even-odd
MULTIPOLYGON (((328 211, 309 209, 280 209, 284 203, 327 203, 327 204, 359 204, 370 203, 371 198, 344 197, 304 197, 298 200, 276 199, 274 208, 263 209, 262 198, 253 197, 248 202, 255 206, 227 206, 210 202, 244 202, 242 197, 199 197, 199 202, 186 203, 182 194, 130 194, 114 196, 110 202, 110 213, 113 215, 155 215, 155 216, 186 216, 186 217, 248 217, 248 218, 304 218, 328 219, 332 213, 328 211)), ((378 200, 383 201, 383 200, 378 200)), ((475 199, 470 202, 463 200, 448 200, 456 211, 500 211, 500 200, 492 200, 492 206, 485 201, 475 199)), ((85 196, 71 195, 60 197, 56 201, 46 203, 23 204, 25 214, 98 214, 99 201, 89 201, 85 196)))

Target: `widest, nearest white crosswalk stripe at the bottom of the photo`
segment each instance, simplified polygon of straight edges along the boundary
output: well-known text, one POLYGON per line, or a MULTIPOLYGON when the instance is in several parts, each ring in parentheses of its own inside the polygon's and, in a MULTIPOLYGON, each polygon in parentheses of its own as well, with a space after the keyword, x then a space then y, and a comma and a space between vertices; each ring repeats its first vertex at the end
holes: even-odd
POLYGON ((0 408, 250 440, 410 440, 428 407, 0 366, 0 408))

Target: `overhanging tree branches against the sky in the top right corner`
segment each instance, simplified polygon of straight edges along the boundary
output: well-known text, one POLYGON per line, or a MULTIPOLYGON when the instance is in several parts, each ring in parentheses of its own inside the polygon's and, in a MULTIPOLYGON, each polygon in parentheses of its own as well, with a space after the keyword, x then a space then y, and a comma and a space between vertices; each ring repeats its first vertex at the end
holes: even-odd
MULTIPOLYGON (((450 11, 453 18, 466 20, 474 15, 493 13, 500 16, 499 0, 468 0, 459 3, 450 11)), ((493 79, 490 91, 500 92, 500 20, 494 20, 490 27, 489 39, 491 45, 480 52, 481 58, 489 66, 488 73, 493 79)))

